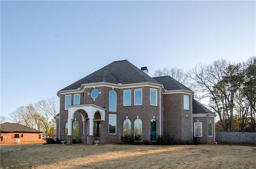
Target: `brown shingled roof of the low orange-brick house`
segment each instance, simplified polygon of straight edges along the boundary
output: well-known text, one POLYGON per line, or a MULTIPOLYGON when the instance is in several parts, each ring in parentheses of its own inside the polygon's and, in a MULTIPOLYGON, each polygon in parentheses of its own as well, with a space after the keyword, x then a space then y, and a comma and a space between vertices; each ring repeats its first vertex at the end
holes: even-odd
POLYGON ((18 124, 18 123, 9 123, 9 122, 6 122, 6 123, 2 123, 0 124, 0 132, 8 132, 8 133, 11 133, 11 132, 26 132, 26 133, 43 133, 43 131, 39 131, 39 130, 36 130, 36 129, 32 129, 30 127, 27 127, 25 125, 21 125, 21 124, 18 124))

